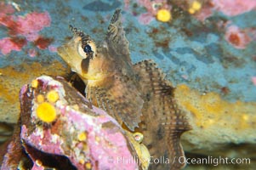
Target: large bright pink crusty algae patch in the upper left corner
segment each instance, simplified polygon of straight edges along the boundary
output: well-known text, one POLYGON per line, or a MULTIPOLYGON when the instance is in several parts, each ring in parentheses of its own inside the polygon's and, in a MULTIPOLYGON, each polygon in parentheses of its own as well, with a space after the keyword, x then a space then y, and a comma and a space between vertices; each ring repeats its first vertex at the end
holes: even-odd
POLYGON ((26 42, 37 42, 37 39, 41 38, 39 31, 51 24, 48 12, 32 12, 24 16, 15 15, 14 12, 15 10, 11 5, 0 3, 0 26, 5 26, 9 34, 9 37, 3 37, 0 40, 2 54, 20 51, 26 45, 26 43, 17 42, 15 39, 22 38, 26 42))

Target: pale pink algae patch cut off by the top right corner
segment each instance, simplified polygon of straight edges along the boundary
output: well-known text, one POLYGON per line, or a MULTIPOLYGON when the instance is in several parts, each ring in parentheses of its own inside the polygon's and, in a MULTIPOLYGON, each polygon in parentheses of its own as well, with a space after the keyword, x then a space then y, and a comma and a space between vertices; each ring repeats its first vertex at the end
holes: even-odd
POLYGON ((212 0, 217 10, 228 16, 236 16, 256 8, 255 0, 212 0))

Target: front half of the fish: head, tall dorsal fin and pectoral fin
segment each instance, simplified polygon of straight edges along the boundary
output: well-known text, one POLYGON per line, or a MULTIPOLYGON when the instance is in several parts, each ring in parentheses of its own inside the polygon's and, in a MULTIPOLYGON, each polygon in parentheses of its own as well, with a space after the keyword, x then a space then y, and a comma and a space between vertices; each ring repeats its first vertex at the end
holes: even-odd
POLYGON ((58 53, 86 83, 87 98, 134 130, 140 122, 143 99, 120 17, 120 10, 117 10, 100 47, 71 26, 74 37, 58 48, 58 53))

